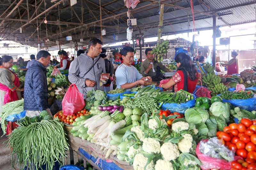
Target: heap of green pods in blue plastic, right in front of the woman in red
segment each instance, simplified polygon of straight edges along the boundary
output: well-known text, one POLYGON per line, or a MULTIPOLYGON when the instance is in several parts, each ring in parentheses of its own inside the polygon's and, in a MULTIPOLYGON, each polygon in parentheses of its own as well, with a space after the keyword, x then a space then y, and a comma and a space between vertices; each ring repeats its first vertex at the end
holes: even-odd
POLYGON ((163 92, 155 97, 158 102, 164 103, 186 103, 189 100, 193 100, 193 94, 186 92, 184 90, 179 90, 178 92, 163 92))

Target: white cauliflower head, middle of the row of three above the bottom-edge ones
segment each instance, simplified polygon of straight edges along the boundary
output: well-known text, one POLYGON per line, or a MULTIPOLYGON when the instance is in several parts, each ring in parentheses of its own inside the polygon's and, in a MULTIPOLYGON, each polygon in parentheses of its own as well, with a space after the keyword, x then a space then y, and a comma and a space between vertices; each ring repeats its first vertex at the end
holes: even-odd
POLYGON ((178 146, 171 142, 164 143, 161 148, 161 154, 163 155, 165 160, 174 160, 180 156, 180 152, 178 150, 178 146))

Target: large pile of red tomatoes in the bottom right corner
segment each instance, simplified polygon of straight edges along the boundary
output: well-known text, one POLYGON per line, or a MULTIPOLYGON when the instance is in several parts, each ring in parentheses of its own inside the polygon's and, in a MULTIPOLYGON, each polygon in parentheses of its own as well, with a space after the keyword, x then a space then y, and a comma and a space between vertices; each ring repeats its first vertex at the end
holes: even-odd
POLYGON ((243 118, 241 123, 231 123, 223 131, 217 132, 217 137, 223 139, 223 144, 234 150, 238 159, 231 162, 231 170, 256 170, 256 120, 243 118))

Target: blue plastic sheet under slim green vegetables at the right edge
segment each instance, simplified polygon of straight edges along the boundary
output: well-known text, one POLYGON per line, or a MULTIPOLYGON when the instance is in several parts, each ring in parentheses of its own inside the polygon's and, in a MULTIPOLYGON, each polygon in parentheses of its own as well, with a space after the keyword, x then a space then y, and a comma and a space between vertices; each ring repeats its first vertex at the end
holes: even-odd
POLYGON ((234 107, 239 107, 241 109, 248 110, 250 112, 252 110, 256 110, 256 94, 250 99, 232 99, 232 100, 222 99, 222 100, 223 102, 230 103, 234 107))

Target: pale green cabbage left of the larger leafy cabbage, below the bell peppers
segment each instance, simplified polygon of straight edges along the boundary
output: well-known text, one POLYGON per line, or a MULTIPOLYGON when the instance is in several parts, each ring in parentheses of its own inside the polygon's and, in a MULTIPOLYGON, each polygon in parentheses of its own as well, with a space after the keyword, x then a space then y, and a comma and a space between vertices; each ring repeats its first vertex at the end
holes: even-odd
POLYGON ((209 114, 202 108, 193 107, 185 111, 185 119, 188 123, 197 125, 200 123, 205 123, 206 120, 209 119, 209 114))

